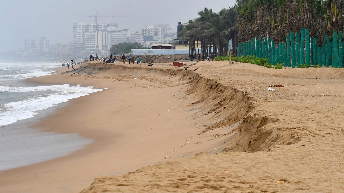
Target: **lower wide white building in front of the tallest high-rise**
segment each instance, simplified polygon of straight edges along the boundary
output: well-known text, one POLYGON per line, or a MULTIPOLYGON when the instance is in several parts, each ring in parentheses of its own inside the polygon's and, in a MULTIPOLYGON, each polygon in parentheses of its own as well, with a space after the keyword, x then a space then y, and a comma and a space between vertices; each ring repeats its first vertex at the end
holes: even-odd
POLYGON ((86 50, 108 50, 114 44, 127 42, 130 34, 128 30, 85 33, 86 50))

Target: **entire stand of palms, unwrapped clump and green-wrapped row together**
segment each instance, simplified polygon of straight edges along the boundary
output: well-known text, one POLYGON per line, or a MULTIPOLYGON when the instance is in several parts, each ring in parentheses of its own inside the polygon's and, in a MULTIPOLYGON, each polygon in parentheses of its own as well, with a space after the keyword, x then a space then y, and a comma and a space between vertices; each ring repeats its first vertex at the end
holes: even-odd
POLYGON ((237 0, 219 12, 198 12, 182 37, 193 54, 198 42, 207 48, 203 57, 227 55, 232 39, 234 55, 266 58, 268 65, 341 68, 343 13, 340 0, 237 0))

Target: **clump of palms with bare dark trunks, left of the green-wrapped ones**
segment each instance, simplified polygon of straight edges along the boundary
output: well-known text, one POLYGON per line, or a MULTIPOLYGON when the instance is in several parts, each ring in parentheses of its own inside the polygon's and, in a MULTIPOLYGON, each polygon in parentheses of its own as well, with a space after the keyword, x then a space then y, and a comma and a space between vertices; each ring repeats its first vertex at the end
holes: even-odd
POLYGON ((223 8, 219 12, 204 8, 203 11, 198 12, 198 18, 184 23, 181 38, 189 39, 190 53, 195 56, 200 54, 203 59, 205 56, 226 55, 227 41, 233 39, 236 43, 236 15, 234 7, 223 8), (198 49, 200 47, 202 47, 201 53, 198 49))

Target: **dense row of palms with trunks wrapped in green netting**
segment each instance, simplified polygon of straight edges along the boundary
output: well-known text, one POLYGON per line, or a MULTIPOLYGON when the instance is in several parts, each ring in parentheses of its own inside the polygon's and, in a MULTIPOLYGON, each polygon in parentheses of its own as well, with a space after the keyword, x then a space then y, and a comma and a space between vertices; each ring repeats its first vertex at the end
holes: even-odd
POLYGON ((237 0, 238 55, 293 68, 343 67, 343 5, 341 0, 237 0))

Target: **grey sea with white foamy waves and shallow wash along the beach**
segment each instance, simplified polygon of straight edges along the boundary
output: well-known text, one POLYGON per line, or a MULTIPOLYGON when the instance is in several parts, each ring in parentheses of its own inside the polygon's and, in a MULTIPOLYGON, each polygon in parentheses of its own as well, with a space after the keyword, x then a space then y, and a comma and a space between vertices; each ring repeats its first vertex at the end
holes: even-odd
POLYGON ((60 66, 0 63, 0 171, 65 156, 92 143, 93 139, 75 133, 43 133, 21 121, 59 103, 103 90, 71 84, 25 84, 26 78, 49 76, 54 73, 52 68, 60 66))

